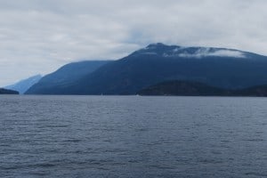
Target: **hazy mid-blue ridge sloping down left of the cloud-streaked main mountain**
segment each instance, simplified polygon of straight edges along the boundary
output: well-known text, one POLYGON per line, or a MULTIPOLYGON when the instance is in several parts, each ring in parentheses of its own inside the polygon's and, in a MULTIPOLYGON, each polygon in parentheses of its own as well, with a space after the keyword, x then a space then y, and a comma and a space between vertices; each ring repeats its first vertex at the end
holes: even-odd
POLYGON ((57 93, 59 89, 66 85, 70 86, 74 81, 92 73, 95 69, 110 61, 79 61, 69 63, 55 72, 48 74, 32 85, 27 94, 60 94, 57 93))

